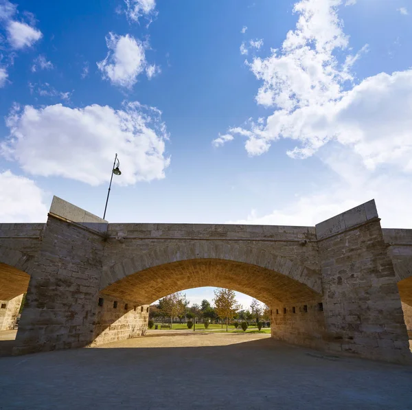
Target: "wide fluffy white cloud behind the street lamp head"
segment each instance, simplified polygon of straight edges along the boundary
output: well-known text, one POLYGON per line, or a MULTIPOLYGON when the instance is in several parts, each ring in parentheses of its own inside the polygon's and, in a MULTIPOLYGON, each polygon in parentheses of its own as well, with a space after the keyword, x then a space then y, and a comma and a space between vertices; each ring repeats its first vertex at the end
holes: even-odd
POLYGON ((30 174, 91 185, 108 181, 107 167, 117 152, 122 176, 115 183, 162 179, 170 159, 160 115, 138 102, 124 104, 122 110, 98 104, 76 109, 62 104, 15 106, 6 122, 10 136, 0 152, 30 174))

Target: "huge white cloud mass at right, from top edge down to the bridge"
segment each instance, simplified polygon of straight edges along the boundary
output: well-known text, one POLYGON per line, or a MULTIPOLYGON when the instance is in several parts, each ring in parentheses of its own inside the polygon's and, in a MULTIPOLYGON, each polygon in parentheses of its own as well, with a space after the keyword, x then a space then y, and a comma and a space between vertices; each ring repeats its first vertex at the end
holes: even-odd
POLYGON ((412 227, 405 220, 412 202, 412 69, 356 80, 354 64, 368 47, 348 51, 338 16, 339 5, 353 3, 299 1, 296 28, 282 47, 247 62, 261 82, 256 102, 273 111, 227 132, 246 139, 252 156, 278 139, 293 140, 287 154, 318 157, 328 181, 317 183, 316 194, 301 194, 269 215, 251 213, 238 223, 313 225, 376 198, 384 226, 412 227))

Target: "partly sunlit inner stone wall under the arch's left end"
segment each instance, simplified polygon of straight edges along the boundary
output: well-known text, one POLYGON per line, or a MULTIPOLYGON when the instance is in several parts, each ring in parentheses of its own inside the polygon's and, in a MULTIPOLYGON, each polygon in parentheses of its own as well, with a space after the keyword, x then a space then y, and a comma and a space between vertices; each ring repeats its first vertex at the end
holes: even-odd
POLYGON ((121 341, 146 334, 149 306, 100 295, 92 346, 121 341))

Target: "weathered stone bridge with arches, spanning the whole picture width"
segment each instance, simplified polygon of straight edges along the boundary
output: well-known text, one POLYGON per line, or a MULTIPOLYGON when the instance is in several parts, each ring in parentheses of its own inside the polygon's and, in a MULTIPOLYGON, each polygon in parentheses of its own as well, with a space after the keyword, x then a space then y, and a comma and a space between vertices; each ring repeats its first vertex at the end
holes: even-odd
POLYGON ((412 359, 412 229, 382 229, 374 201, 286 227, 112 224, 55 196, 46 224, 0 227, 0 330, 27 292, 14 354, 138 337, 153 301, 219 286, 268 304, 275 339, 412 359))

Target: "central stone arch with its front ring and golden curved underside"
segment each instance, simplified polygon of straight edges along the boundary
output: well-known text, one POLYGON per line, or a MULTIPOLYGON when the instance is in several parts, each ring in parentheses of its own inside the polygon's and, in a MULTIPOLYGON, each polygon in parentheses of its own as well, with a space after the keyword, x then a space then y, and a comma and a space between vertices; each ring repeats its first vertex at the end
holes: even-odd
POLYGON ((321 297, 320 274, 265 249, 239 244, 192 242, 126 258, 105 270, 100 291, 150 304, 170 293, 220 286, 275 301, 321 297))

